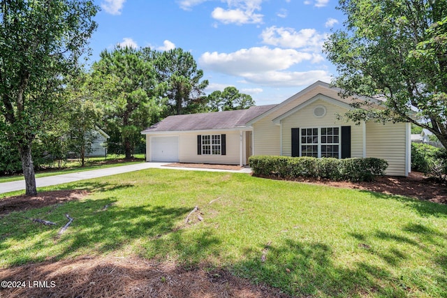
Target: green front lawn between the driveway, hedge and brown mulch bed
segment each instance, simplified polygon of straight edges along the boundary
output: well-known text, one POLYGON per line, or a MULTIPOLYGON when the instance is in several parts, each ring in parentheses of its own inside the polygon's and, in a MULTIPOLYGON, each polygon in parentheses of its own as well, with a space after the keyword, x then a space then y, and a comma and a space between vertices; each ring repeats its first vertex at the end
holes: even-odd
POLYGON ((226 267, 297 296, 447 295, 445 205, 247 174, 159 169, 45 189, 73 188, 91 195, 0 219, 0 267, 139 255, 226 267), (101 211, 106 204, 112 205, 101 211), (195 206, 204 221, 193 214, 185 224, 195 206), (56 239, 66 213, 73 224, 56 239))

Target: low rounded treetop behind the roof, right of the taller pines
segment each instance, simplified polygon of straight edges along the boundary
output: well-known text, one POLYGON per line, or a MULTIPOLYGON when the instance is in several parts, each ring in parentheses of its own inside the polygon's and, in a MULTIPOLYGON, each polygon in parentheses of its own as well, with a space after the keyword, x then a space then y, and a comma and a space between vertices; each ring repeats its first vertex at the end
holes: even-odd
POLYGON ((223 91, 213 91, 207 100, 210 110, 214 112, 244 110, 255 105, 249 94, 240 93, 235 87, 226 87, 223 91))

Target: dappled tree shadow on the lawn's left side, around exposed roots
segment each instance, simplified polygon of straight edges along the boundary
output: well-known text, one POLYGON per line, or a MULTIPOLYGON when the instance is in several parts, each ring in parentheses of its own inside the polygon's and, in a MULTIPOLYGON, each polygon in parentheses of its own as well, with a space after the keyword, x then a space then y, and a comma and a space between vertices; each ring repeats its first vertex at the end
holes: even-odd
MULTIPOLYGON (((95 185, 97 188, 98 185, 95 185)), ((97 254, 119 250, 135 239, 156 237, 175 229, 190 209, 146 204, 121 207, 114 197, 101 200, 71 201, 1 218, 0 259, 9 265, 59 260, 68 255, 97 254), (57 225, 41 225, 27 218, 45 217, 57 225), (67 223, 64 234, 57 235, 67 223)))

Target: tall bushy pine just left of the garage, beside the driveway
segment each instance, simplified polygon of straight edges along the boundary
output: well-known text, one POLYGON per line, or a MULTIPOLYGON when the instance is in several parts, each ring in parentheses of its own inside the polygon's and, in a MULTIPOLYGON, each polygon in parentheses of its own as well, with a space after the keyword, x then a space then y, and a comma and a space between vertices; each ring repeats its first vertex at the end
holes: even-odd
POLYGON ((127 159, 141 138, 140 131, 158 121, 161 113, 153 55, 149 48, 117 46, 101 52, 101 59, 92 67, 107 131, 111 138, 121 137, 127 159))

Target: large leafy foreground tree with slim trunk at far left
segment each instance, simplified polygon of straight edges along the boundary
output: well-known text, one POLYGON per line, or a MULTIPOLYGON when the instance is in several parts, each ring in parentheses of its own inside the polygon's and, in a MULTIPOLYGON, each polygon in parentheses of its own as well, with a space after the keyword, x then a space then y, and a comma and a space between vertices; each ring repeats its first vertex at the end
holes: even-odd
POLYGON ((27 195, 37 193, 31 144, 57 117, 97 10, 87 0, 0 1, 0 131, 20 152, 27 195))

